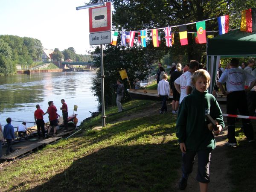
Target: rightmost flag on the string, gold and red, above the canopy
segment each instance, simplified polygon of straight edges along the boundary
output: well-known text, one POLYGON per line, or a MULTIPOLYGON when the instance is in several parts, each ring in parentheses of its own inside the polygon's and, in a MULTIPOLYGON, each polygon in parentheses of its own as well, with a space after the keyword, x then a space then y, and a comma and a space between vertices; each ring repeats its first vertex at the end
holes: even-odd
POLYGON ((256 32, 256 8, 242 11, 240 31, 256 32))

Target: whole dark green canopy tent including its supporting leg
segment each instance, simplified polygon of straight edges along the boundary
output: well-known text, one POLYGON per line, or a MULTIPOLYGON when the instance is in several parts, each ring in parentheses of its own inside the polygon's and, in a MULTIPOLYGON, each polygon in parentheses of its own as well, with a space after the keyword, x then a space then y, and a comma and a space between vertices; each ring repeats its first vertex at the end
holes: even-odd
POLYGON ((230 31, 207 39, 207 71, 211 76, 209 93, 212 93, 220 58, 256 57, 256 34, 230 31))

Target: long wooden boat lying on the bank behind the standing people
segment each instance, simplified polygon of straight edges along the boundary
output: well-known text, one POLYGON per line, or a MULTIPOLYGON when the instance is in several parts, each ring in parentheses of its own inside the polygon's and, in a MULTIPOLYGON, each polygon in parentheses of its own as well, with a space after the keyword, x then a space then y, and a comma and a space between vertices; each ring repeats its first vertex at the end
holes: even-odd
MULTIPOLYGON (((148 89, 127 89, 129 95, 132 99, 142 99, 142 100, 160 100, 158 97, 157 90, 148 90, 148 89)), ((170 94, 170 98, 168 100, 172 101, 173 95, 170 94)), ((226 102, 227 96, 223 96, 219 94, 217 96, 218 102, 226 102)))

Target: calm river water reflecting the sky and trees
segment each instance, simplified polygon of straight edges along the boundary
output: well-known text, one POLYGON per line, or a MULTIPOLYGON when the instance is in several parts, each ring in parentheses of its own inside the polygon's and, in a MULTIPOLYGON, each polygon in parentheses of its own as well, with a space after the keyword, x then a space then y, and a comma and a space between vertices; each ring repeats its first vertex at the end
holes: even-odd
MULTIPOLYGON (((96 72, 58 72, 36 73, 31 75, 0 76, 0 122, 6 124, 6 118, 15 121, 34 122, 35 105, 39 104, 45 112, 48 101, 52 100, 61 113, 61 99, 65 99, 69 115, 74 105, 78 106, 78 125, 97 111, 98 102, 90 87, 96 72)), ((44 116, 48 121, 48 115, 44 116)), ((21 122, 12 122, 13 126, 21 122)), ((27 123, 27 126, 34 124, 27 123)))

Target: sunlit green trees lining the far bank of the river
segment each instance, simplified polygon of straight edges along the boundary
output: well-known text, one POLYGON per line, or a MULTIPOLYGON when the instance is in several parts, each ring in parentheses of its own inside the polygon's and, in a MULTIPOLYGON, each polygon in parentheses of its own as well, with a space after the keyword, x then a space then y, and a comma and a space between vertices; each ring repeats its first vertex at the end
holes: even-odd
MULTIPOLYGON (((43 45, 40 40, 15 35, 0 35, 0 75, 16 73, 16 64, 30 67, 33 61, 42 61, 43 45)), ((73 47, 62 52, 55 48, 52 53, 54 61, 67 60, 88 62, 90 55, 76 54, 73 47)))

